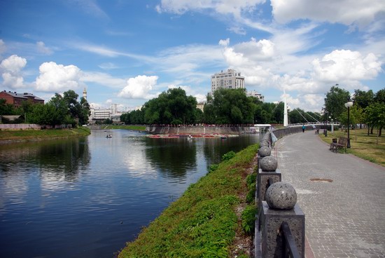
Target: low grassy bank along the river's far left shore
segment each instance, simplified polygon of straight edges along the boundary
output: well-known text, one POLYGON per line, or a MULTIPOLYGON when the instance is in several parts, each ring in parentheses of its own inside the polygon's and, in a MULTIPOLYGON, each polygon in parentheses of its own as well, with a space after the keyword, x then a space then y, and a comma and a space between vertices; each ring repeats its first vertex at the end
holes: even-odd
POLYGON ((62 138, 90 135, 89 128, 79 127, 73 129, 51 130, 0 130, 0 141, 29 141, 47 138, 62 138))

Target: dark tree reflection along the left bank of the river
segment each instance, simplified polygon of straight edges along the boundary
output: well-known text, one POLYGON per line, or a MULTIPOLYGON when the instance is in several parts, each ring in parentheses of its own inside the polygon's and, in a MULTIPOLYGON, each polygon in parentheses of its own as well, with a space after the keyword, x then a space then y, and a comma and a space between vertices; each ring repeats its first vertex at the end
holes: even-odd
POLYGON ((79 170, 85 170, 91 160, 87 139, 70 138, 23 142, 1 146, 0 172, 3 175, 15 172, 38 170, 50 177, 76 179, 79 170))

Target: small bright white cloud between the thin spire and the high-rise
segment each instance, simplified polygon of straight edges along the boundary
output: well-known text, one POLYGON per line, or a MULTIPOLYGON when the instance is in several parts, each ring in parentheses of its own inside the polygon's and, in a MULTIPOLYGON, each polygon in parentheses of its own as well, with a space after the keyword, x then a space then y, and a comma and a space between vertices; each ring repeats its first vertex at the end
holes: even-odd
POLYGON ((158 81, 158 76, 139 75, 127 80, 127 86, 118 94, 118 97, 133 99, 149 99, 149 94, 158 81))

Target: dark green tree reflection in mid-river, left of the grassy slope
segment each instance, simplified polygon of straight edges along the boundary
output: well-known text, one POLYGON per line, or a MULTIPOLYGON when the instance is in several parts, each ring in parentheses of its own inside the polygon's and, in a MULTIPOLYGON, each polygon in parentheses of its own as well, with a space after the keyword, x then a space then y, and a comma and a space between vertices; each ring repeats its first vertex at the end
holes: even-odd
POLYGON ((146 138, 147 160, 166 177, 185 177, 188 169, 197 166, 195 144, 185 140, 146 138))

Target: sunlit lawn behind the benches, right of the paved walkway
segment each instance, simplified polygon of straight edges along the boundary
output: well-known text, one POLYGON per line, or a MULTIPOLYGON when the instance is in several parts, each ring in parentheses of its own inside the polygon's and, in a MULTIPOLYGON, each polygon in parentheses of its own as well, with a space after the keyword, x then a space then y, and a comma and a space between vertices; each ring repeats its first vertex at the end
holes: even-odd
MULTIPOLYGON (((322 132, 323 130, 319 131, 319 137, 329 144, 332 138, 347 137, 344 130, 328 132, 328 137, 325 137, 322 132)), ((351 148, 347 149, 347 153, 385 166, 385 137, 379 137, 377 144, 377 130, 374 129, 373 133, 374 135, 367 135, 367 129, 350 130, 351 148)))

